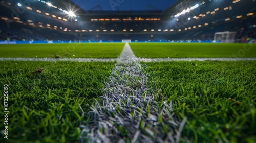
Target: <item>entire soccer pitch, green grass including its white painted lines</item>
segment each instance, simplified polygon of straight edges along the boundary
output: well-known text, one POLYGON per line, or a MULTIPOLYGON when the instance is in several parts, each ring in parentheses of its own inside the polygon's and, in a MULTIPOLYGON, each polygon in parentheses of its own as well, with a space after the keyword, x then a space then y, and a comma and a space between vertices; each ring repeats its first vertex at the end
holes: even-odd
MULTIPOLYGON (((2 89, 8 84, 9 139, 20 142, 87 142, 97 137, 114 142, 256 139, 255 60, 136 61, 136 57, 256 57, 255 44, 130 43, 132 51, 123 46, 124 43, 1 46, 0 57, 55 58, 56 53, 60 58, 117 58, 122 52, 116 62, 2 58, 0 83, 2 89), (66 47, 72 45, 75 50, 68 51, 66 47), (38 67, 44 71, 40 73, 38 67), (33 71, 36 72, 31 74, 33 71)), ((3 96, 1 100, 4 101, 3 96)), ((4 104, 0 109, 5 110, 4 104)), ((4 123, 5 119, 0 120, 4 123)), ((0 127, 4 129, 5 125, 0 127)))

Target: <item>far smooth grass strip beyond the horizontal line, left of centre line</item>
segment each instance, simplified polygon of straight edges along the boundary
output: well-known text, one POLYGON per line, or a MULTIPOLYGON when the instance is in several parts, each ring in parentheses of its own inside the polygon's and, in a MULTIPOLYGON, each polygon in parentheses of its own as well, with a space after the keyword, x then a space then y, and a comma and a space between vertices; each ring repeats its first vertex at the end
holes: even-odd
POLYGON ((24 58, 117 58, 124 43, 6 44, 0 57, 24 58))

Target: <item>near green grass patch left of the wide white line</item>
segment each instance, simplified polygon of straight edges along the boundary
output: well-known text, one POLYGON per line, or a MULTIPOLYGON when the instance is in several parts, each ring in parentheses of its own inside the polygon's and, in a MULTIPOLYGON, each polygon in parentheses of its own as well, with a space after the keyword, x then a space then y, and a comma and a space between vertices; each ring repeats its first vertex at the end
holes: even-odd
MULTIPOLYGON (((2 95, 8 84, 8 141, 75 142, 83 120, 78 104, 89 110, 94 98, 101 96, 114 62, 4 61, 0 65, 2 95), (44 72, 30 74, 37 67, 44 72)), ((4 123, 4 102, 0 110, 4 123)), ((0 125, 0 142, 4 126, 0 125)))

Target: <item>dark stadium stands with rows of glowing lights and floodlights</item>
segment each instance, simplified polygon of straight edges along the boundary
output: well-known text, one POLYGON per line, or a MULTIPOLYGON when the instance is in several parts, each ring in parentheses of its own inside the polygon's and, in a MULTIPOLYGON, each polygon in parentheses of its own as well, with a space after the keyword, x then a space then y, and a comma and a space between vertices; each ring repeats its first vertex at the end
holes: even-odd
MULTIPOLYGON (((1 43, 212 42, 216 32, 236 32, 233 41, 255 38, 256 1, 177 1, 166 10, 83 10, 65 1, 1 1, 1 43)), ((221 41, 218 41, 221 42, 221 41)))

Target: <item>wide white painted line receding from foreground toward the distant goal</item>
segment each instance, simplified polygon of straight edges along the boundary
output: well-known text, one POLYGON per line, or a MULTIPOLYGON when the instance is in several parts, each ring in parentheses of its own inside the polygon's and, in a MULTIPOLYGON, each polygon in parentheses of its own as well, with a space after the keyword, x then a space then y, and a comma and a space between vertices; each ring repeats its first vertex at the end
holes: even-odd
POLYGON ((81 142, 89 137, 90 142, 169 142, 179 140, 179 127, 172 110, 157 90, 147 88, 147 75, 128 43, 114 65, 105 83, 102 102, 95 99, 91 111, 81 124, 81 142), (163 101, 156 103, 156 99, 163 101), (164 117, 163 117, 164 116, 164 117), (161 120, 159 119, 161 118, 161 120), (164 135, 162 125, 167 125, 164 135), (125 133, 120 133, 123 130, 125 133), (120 136, 120 135, 123 136, 120 136))

